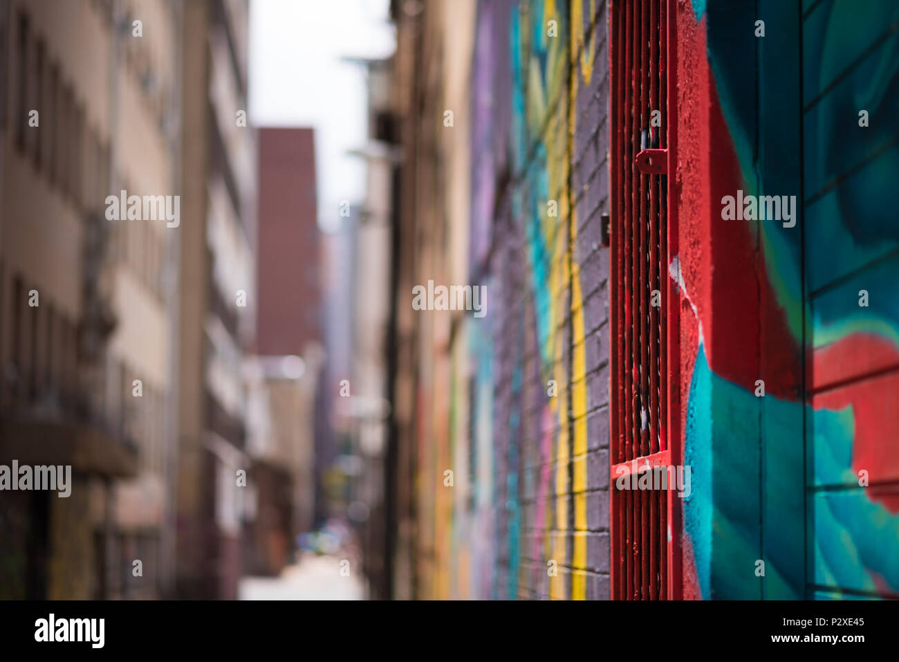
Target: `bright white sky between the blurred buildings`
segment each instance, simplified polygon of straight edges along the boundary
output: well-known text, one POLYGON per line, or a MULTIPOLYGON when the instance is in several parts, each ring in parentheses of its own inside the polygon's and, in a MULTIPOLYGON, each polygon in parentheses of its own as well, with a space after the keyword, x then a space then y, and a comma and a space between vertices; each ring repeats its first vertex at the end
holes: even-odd
POLYGON ((365 165, 347 152, 366 141, 365 67, 341 58, 394 50, 388 0, 252 0, 250 121, 316 130, 318 224, 336 227, 340 201, 360 204, 365 165))

